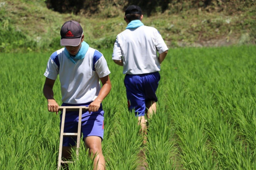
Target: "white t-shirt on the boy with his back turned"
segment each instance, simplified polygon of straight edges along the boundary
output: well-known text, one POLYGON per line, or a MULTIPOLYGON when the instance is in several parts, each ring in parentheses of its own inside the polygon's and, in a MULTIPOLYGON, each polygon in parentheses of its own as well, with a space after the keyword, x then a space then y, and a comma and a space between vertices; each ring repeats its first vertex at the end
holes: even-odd
POLYGON ((112 59, 123 59, 123 74, 153 73, 160 71, 157 52, 166 50, 168 47, 157 29, 140 26, 117 35, 112 59))

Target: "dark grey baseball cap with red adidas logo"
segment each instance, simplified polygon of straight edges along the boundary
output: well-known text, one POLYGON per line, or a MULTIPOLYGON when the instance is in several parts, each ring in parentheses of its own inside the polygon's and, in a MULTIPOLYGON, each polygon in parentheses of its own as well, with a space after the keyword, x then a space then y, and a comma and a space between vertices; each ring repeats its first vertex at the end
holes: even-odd
POLYGON ((60 30, 61 46, 78 46, 83 35, 83 28, 76 21, 66 21, 60 30))

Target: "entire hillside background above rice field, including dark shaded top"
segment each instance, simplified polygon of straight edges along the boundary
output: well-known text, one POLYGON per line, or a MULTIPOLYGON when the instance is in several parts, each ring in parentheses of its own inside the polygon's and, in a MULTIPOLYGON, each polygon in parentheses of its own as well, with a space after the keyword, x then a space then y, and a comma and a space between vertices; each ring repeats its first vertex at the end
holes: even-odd
POLYGON ((256 41, 255 0, 0 0, 0 52, 54 51, 67 20, 81 23, 91 47, 112 48, 131 4, 142 8, 143 23, 157 28, 170 48, 256 41))

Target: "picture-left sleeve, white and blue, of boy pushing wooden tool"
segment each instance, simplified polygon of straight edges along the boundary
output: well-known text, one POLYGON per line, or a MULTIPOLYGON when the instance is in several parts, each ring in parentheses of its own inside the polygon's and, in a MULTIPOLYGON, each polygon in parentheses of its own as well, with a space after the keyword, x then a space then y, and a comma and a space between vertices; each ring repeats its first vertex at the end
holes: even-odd
POLYGON ((46 71, 44 72, 45 77, 56 80, 57 75, 59 74, 59 66, 56 64, 56 62, 58 64, 59 59, 55 52, 50 56, 48 60, 46 71))

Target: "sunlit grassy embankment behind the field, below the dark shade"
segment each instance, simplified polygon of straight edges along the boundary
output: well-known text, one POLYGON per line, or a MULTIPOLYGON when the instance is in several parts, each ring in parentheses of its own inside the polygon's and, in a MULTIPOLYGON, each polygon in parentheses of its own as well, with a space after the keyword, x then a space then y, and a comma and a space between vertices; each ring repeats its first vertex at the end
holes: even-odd
MULTIPOLYGON (((246 1, 247 2, 247 1, 246 1)), ((246 3, 245 2, 245 3, 246 3)), ((249 2, 249 1, 248 1, 249 2)), ((202 8, 144 16, 143 23, 159 30, 168 47, 255 44, 255 3, 228 10, 207 12, 202 8)), ((243 3, 242 3, 243 4, 243 3)), ((108 5, 106 5, 108 7, 108 5)), ((60 28, 76 20, 84 28, 85 41, 94 48, 112 48, 116 35, 125 29, 122 7, 104 8, 98 14, 60 14, 46 8, 43 0, 0 1, 0 52, 53 51, 60 48, 60 28), (114 13, 114 14, 113 14, 114 13)), ((230 7, 229 7, 230 8, 230 7)))

